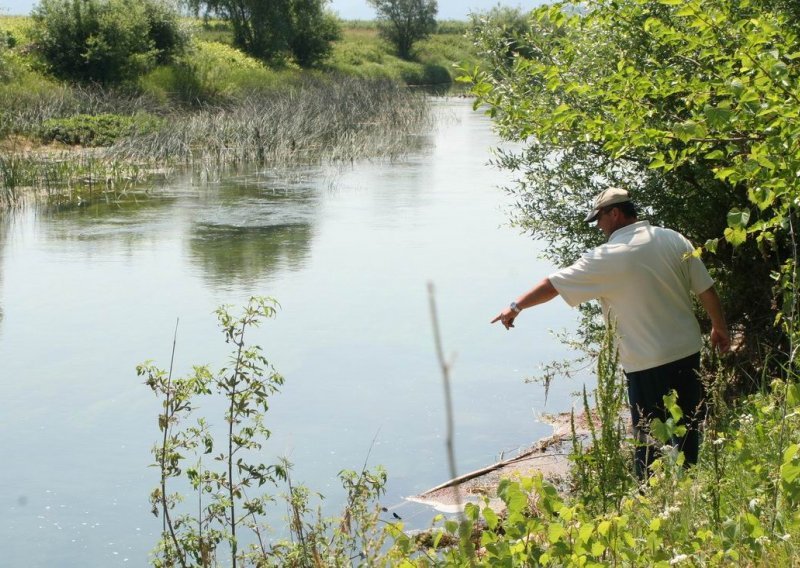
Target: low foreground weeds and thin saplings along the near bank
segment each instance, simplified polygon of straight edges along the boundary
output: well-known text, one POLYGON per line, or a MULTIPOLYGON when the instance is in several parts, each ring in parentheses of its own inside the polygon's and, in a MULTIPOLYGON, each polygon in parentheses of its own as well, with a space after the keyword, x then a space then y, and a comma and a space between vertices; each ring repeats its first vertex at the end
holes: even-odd
POLYGON ((666 445, 683 428, 673 393, 665 397, 667 418, 651 425, 665 444, 661 457, 640 484, 631 471, 635 442, 620 420, 626 403, 609 333, 598 387, 584 394, 589 444, 573 434, 570 494, 541 477, 506 479, 498 486, 503 510, 473 496, 463 515, 438 515, 429 530, 411 532, 381 504, 387 475, 380 467, 341 472, 344 509, 323 517, 321 496, 292 481, 290 463, 263 463, 268 401, 283 377, 244 337, 276 308, 253 298, 240 315, 217 311, 232 347, 219 371, 198 366, 175 378, 151 362, 138 368, 162 405, 153 448, 160 483, 151 503, 163 523, 155 566, 793 563, 800 546, 800 387, 793 376, 728 404, 732 373, 708 361, 712 412, 698 464, 685 469, 683 455, 666 445), (209 408, 224 414, 210 415, 209 408), (276 538, 267 523, 276 510, 288 511, 287 537, 276 538))

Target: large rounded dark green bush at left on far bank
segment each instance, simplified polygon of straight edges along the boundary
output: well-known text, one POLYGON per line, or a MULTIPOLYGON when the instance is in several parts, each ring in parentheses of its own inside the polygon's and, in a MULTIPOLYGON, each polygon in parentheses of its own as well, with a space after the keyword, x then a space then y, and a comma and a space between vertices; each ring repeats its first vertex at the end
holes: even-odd
POLYGON ((118 83, 180 53, 187 36, 160 0, 42 0, 32 36, 62 79, 118 83))

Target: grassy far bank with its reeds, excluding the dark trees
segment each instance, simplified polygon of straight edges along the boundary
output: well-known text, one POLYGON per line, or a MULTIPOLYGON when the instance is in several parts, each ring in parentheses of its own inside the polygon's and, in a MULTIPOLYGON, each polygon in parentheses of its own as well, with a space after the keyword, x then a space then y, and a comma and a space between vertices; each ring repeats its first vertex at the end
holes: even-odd
POLYGON ((115 198, 149 173, 247 161, 396 156, 426 126, 408 85, 450 84, 473 59, 449 23, 404 61, 370 22, 346 24, 320 68, 269 67, 220 22, 188 21, 189 49, 114 89, 57 81, 31 50, 30 18, 0 17, 0 201, 115 198))

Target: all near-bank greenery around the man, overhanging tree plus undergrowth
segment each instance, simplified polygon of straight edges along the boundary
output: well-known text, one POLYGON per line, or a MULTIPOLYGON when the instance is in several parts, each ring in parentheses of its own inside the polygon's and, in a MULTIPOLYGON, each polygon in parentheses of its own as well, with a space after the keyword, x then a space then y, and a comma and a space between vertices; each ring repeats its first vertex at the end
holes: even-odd
POLYGON ((598 388, 584 404, 601 420, 591 422, 589 445, 574 440, 570 495, 540 478, 506 480, 504 512, 473 502, 418 538, 383 518, 382 478, 373 476, 356 494, 358 510, 372 511, 358 531, 349 530, 354 501, 341 518, 318 522, 302 500, 291 509, 292 539, 254 564, 793 565, 799 26, 796 4, 781 0, 561 2, 471 23, 484 63, 465 80, 476 108, 519 143, 498 162, 519 179, 516 221, 552 244, 554 260, 597 243, 581 213, 607 184, 629 187, 644 216, 706 255, 735 345, 727 359, 704 357, 710 414, 696 466, 683 467, 666 444, 684 428, 672 395, 668 416, 651 424, 661 457, 645 483, 635 479, 616 360, 608 337, 587 326, 598 388), (351 548, 330 544, 344 535, 351 548))

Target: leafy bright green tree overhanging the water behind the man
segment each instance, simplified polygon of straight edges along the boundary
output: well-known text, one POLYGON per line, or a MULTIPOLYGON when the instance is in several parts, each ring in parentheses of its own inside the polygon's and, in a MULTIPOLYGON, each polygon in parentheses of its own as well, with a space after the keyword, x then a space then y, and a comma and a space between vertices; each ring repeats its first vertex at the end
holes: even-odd
POLYGON ((518 222, 570 262, 600 238, 582 223, 591 196, 628 186, 646 217, 713 253, 751 355, 796 345, 800 41, 787 6, 562 2, 523 35, 491 20, 473 31, 490 61, 470 76, 476 106, 524 142, 500 158, 519 173, 518 222))

